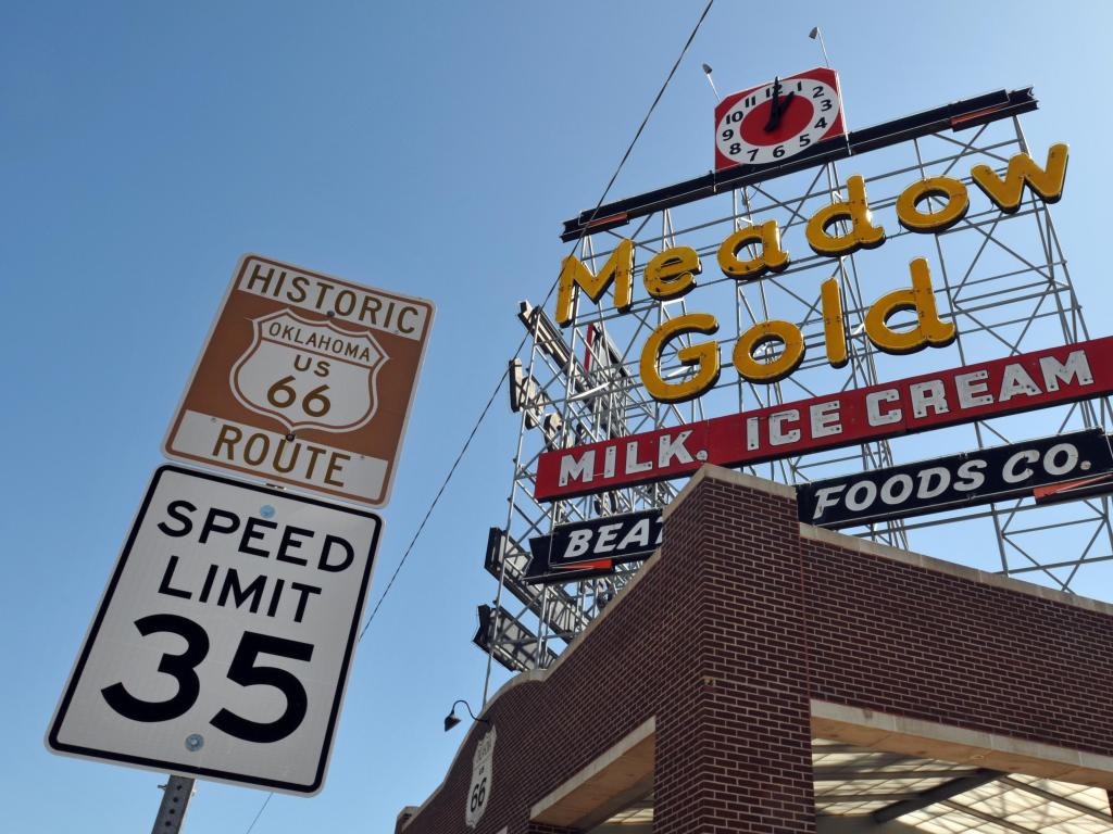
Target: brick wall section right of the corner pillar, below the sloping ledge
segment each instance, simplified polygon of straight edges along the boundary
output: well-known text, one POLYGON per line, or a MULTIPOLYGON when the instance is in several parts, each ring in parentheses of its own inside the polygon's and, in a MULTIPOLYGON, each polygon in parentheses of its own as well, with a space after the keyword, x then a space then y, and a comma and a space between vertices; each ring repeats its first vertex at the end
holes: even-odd
POLYGON ((814 697, 1113 748, 1109 617, 830 545, 805 550, 814 697))

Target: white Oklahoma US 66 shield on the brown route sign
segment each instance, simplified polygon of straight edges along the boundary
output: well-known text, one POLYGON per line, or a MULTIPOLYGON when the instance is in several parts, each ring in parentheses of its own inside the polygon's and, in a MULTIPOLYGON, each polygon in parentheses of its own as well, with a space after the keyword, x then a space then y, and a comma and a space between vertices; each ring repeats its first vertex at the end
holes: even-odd
POLYGON ((375 378, 388 357, 371 334, 311 321, 288 308, 252 324, 252 346, 229 380, 244 407, 289 431, 351 431, 374 416, 375 378))

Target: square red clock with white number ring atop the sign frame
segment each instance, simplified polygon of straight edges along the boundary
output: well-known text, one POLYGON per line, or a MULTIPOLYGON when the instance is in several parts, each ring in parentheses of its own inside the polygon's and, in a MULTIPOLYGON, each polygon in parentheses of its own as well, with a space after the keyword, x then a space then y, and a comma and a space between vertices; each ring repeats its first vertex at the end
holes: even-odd
POLYGON ((782 162, 845 133, 835 70, 777 78, 715 108, 715 169, 782 162))

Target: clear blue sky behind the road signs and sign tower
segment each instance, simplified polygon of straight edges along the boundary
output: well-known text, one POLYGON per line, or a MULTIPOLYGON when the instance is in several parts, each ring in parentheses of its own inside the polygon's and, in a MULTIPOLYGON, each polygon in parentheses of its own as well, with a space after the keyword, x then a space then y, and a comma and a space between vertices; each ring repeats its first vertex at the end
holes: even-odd
MULTIPOLYGON (((144 831, 162 777, 42 735, 230 272, 245 251, 433 299, 384 512, 397 564, 700 10, 697 2, 7 3, 0 11, 0 831, 144 831)), ((1109 6, 718 0, 613 197, 705 172, 723 92, 821 63, 850 127, 1035 86, 1036 149, 1091 332, 1110 335, 1109 6)), ((504 395, 359 646, 329 781, 264 834, 390 832, 476 705, 516 419, 504 395)), ((1113 597, 1109 587, 1078 588, 1113 597)), ((502 675, 496 683, 504 679, 502 675)), ((265 793, 201 783, 188 831, 244 832, 265 793)), ((463 811, 461 797, 461 811, 463 811)))

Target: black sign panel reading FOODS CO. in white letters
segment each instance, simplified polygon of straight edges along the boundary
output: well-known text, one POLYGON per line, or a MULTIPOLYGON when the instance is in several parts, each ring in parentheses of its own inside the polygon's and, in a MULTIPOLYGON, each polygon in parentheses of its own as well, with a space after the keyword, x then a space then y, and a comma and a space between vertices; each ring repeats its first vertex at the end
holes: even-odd
POLYGON ((801 522, 850 527, 1021 498, 1109 473, 1113 453, 1095 428, 801 484, 796 499, 801 522))

